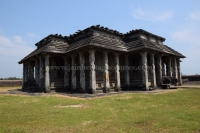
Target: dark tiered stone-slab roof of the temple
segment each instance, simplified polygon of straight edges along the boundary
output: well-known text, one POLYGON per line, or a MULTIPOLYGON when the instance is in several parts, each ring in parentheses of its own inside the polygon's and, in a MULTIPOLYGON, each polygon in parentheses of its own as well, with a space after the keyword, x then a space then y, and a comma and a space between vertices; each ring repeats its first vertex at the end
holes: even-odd
POLYGON ((96 46, 122 52, 150 49, 185 58, 181 53, 164 45, 162 43, 163 41, 165 41, 165 38, 143 29, 131 30, 122 34, 116 30, 96 25, 84 30, 78 30, 69 36, 50 34, 36 43, 37 49, 23 58, 19 63, 41 53, 65 54, 87 46, 96 46), (144 35, 146 38, 142 38, 141 35, 144 35), (154 41, 151 41, 151 38, 153 38, 154 41))

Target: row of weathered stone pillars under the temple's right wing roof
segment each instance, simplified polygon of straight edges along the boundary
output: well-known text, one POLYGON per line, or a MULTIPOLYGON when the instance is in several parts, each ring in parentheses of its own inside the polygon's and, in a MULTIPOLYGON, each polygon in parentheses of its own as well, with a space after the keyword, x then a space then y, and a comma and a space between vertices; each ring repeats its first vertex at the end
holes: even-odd
MULTIPOLYGON (((142 83, 145 90, 148 90, 148 70, 147 70, 147 52, 140 53, 142 56, 142 83)), ((150 53, 150 65, 151 65, 151 87, 155 88, 157 85, 162 84, 162 77, 165 75, 165 67, 164 62, 162 61, 162 55, 157 54, 157 82, 155 75, 155 60, 154 53, 150 53)), ((128 73, 128 72, 126 72, 128 73)), ((172 58, 168 57, 167 63, 167 76, 176 78, 178 80, 178 84, 182 85, 182 77, 181 77, 181 69, 180 69, 180 58, 172 58), (173 59, 173 60, 172 60, 173 59), (171 62, 173 63, 171 64, 171 62), (173 75, 172 75, 173 71, 173 75)))

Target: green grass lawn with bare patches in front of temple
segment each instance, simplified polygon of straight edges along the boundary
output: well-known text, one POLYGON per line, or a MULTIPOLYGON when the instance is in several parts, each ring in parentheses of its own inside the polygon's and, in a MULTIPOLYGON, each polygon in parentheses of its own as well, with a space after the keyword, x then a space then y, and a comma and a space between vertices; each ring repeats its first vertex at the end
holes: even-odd
POLYGON ((199 133, 200 89, 91 99, 0 94, 0 132, 199 133))

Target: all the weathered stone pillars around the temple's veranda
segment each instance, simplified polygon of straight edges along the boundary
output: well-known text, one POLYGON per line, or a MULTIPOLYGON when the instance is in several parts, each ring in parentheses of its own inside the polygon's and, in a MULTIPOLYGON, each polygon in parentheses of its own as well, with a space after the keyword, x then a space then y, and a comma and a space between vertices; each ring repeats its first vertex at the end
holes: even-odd
MULTIPOLYGON (((119 91, 121 88, 120 85, 120 72, 119 72, 119 54, 115 53, 115 90, 119 91)), ((147 52, 141 52, 141 60, 142 60, 142 84, 144 90, 149 90, 148 86, 148 66, 147 66, 147 52)), ((150 62, 151 62, 151 87, 156 88, 156 83, 158 85, 162 82, 162 59, 161 55, 157 54, 157 79, 156 82, 156 73, 155 73, 155 60, 154 60, 154 53, 150 53, 150 62)), ((50 76, 49 76, 49 55, 44 56, 44 62, 42 60, 42 56, 35 58, 35 80, 38 83, 40 88, 44 88, 45 92, 50 91, 50 76), (45 70, 45 75, 43 75, 43 66, 45 70)), ((129 66, 129 59, 128 55, 125 55, 125 65, 129 66)), ((75 55, 71 55, 72 58, 72 66, 75 66, 75 55)), ((83 92, 85 92, 85 71, 83 69, 85 64, 84 54, 79 52, 79 62, 80 62, 80 87, 83 92)), ((109 84, 109 71, 108 71, 108 52, 104 51, 104 92, 109 92, 110 84, 109 84)), ((176 64, 176 59, 174 59, 174 77, 178 79, 178 82, 181 84, 181 72, 180 72, 180 61, 178 59, 178 64, 176 64), (178 69, 177 69, 178 65, 178 69)), ((90 63, 90 89, 92 93, 96 92, 96 74, 95 74, 95 50, 89 50, 89 63, 90 63)), ((64 57, 64 65, 68 66, 68 59, 64 57)), ((71 88, 75 91, 76 87, 76 69, 71 70, 71 88)), ((27 61, 23 63, 23 82, 28 80, 34 79, 34 65, 31 64, 31 61, 27 61)), ((167 63, 167 75, 172 77, 172 70, 171 70, 171 59, 169 58, 167 63)), ((69 87, 69 70, 64 69, 64 87, 69 87)), ((130 87, 130 75, 129 70, 125 70, 125 85, 126 87, 130 87)))

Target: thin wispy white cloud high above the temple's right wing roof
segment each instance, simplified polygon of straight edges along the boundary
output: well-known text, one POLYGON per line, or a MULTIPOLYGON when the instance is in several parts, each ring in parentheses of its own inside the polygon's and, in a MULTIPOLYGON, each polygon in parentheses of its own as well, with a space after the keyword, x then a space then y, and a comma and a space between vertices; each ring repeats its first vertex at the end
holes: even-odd
POLYGON ((147 11, 142 10, 140 8, 133 8, 133 17, 135 19, 141 19, 146 21, 158 22, 158 21, 165 21, 173 17, 172 11, 147 11))

